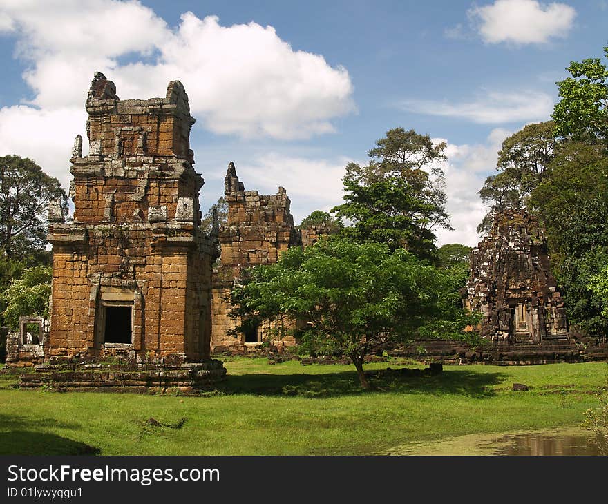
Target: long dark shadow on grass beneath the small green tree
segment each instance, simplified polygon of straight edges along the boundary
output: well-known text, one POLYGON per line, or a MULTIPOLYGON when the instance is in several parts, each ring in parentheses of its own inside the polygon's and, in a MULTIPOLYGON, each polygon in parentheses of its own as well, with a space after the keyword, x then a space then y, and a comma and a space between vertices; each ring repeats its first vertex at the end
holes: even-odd
POLYGON ((502 373, 450 370, 435 376, 372 376, 372 391, 363 391, 354 371, 327 374, 242 374, 228 375, 220 387, 225 394, 258 396, 301 396, 326 398, 376 393, 457 394, 473 398, 495 395, 492 385, 506 378, 502 373))

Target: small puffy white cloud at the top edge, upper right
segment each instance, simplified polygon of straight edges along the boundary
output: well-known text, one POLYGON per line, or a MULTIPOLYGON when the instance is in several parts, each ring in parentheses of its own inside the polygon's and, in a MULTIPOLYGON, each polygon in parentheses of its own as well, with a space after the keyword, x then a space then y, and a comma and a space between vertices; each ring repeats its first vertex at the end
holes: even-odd
POLYGON ((565 3, 536 0, 496 0, 468 11, 486 43, 547 43, 551 37, 566 37, 576 10, 565 3))

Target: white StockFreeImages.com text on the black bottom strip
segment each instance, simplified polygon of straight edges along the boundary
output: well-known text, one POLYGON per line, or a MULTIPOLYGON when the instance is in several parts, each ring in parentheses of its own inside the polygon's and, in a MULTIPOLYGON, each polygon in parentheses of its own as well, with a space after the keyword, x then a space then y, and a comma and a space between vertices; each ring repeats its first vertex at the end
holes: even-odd
POLYGON ((140 485, 151 485, 155 481, 220 481, 220 469, 124 469, 117 467, 71 467, 70 465, 53 464, 41 469, 23 467, 20 465, 8 466, 8 481, 28 483, 49 481, 71 481, 73 483, 87 481, 133 481, 140 485))

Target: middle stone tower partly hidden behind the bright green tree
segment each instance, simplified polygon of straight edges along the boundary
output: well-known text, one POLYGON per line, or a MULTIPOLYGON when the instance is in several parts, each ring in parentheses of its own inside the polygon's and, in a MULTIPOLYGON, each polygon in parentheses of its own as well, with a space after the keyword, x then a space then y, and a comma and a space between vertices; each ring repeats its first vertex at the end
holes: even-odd
MULTIPOLYGON (((211 347, 213 351, 244 351, 247 345, 258 345, 269 327, 247 327, 245 334, 230 331, 240 320, 229 316, 229 295, 243 269, 259 264, 274 264, 281 252, 300 243, 289 211, 289 197, 283 187, 276 195, 245 191, 238 180, 234 163, 228 165, 224 179, 228 220, 219 230, 221 263, 213 273, 211 308, 211 347)), ((293 338, 283 338, 279 345, 293 345, 293 338)))

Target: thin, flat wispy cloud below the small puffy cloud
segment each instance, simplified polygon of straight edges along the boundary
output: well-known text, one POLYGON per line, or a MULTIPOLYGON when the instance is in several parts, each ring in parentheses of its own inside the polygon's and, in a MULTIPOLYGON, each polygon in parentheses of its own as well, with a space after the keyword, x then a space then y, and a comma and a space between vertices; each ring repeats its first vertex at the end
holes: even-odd
POLYGON ((487 91, 473 101, 461 103, 406 99, 397 106, 419 114, 459 117, 481 124, 500 124, 548 120, 553 112, 553 104, 553 98, 547 93, 520 90, 508 93, 487 91))

